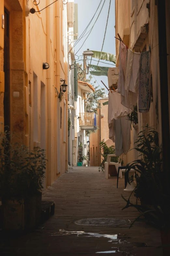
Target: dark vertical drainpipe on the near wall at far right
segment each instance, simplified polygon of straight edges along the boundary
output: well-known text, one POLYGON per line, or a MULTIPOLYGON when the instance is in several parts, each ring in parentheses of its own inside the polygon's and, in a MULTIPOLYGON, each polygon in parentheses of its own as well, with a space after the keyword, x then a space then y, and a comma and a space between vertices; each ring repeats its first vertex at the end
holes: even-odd
POLYGON ((157 6, 158 6, 158 33, 159 33, 159 69, 160 69, 160 88, 161 88, 163 171, 166 173, 166 181, 169 184, 169 181, 170 181, 170 175, 169 175, 170 129, 169 129, 165 0, 158 0, 157 6))

